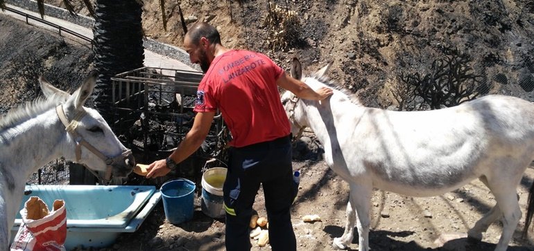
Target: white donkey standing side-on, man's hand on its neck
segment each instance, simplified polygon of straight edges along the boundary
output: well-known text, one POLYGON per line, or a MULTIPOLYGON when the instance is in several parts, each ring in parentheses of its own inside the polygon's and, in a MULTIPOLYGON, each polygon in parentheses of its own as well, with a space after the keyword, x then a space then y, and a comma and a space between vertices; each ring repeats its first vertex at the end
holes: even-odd
MULTIPOLYGON (((497 251, 508 248, 521 210, 516 188, 534 158, 534 104, 517 97, 488 95, 434 111, 386 111, 363 106, 356 97, 325 83, 328 66, 304 79, 311 88, 335 88, 322 102, 301 100, 290 92, 282 103, 293 135, 311 127, 325 147, 325 160, 350 186, 347 224, 333 246, 352 241, 358 217, 359 250, 369 250, 372 188, 408 196, 438 196, 480 178, 496 205, 467 233, 482 232, 503 219, 497 251)), ((293 59, 292 75, 301 78, 293 59)), ((524 233, 533 216, 533 188, 524 233)))

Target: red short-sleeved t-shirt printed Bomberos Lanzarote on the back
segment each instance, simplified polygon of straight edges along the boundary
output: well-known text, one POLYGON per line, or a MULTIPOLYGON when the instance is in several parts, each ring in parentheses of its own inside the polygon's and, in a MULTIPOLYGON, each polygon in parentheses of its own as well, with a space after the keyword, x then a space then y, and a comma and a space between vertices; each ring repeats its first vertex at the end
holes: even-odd
POLYGON ((200 81, 194 111, 219 109, 234 147, 287 136, 291 128, 276 84, 282 74, 266 55, 227 51, 215 57, 200 81))

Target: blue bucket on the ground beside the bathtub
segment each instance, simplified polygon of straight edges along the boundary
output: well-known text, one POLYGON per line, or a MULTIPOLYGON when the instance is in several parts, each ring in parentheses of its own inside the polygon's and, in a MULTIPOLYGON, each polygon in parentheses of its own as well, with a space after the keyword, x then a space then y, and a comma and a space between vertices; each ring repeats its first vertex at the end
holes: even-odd
POLYGON ((162 185, 165 217, 171 224, 180 224, 193 219, 195 183, 185 178, 169 180, 162 185))

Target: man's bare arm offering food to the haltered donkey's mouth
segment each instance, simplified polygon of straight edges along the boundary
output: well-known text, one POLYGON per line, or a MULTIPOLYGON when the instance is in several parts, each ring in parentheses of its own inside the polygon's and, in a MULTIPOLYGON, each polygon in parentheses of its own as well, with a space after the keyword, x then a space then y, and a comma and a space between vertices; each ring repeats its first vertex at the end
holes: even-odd
MULTIPOLYGON (((186 134, 184 140, 180 142, 180 145, 173 151, 171 158, 176 163, 180 163, 193 154, 202 142, 204 142, 209 129, 212 127, 213 118, 215 116, 214 111, 197 113, 193 122, 193 127, 186 134)), ((169 167, 167 167, 165 160, 157 160, 150 164, 147 168, 148 174, 146 178, 156 178, 169 174, 169 167)))

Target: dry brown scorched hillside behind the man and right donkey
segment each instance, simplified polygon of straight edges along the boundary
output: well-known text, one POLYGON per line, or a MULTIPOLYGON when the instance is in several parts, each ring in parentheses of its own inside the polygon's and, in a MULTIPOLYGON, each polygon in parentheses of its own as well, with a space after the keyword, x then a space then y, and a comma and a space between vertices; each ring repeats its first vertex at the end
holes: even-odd
MULTIPOLYGON (((46 3, 61 6, 61 0, 46 3)), ((87 14, 82 1, 78 12, 87 14)), ((481 94, 502 93, 534 101, 534 3, 499 1, 180 1, 188 24, 204 20, 221 31, 230 48, 259 50, 288 69, 300 57, 309 71, 327 62, 329 76, 357 93, 364 104, 395 106, 391 95, 399 76, 433 71, 431 64, 465 55, 466 65, 480 76, 481 94), (266 22, 277 6, 298 17, 289 46, 273 49, 273 30, 266 22)), ((167 2, 164 30, 160 1, 144 1, 147 37, 182 46, 178 2, 167 2)))

